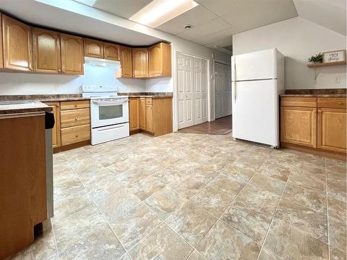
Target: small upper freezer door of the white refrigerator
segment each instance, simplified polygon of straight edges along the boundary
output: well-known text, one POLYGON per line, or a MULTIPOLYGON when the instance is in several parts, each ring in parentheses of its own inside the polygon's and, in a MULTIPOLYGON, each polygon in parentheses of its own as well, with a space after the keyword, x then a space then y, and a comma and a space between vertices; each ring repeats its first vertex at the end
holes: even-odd
POLYGON ((232 56, 232 80, 277 78, 277 49, 232 56))

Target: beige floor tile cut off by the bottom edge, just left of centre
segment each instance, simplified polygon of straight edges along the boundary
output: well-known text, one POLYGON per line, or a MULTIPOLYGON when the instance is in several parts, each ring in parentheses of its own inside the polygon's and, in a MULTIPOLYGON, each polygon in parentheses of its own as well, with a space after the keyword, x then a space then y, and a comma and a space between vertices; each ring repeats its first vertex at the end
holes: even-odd
POLYGON ((167 225, 157 227, 149 236, 129 251, 133 260, 137 259, 187 259, 193 248, 167 225))

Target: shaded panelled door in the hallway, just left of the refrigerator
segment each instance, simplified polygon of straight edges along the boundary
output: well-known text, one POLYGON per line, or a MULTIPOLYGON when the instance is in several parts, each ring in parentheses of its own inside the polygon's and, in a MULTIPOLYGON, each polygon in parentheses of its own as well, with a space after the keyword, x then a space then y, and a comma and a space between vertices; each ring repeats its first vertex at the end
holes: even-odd
POLYGON ((231 67, 214 62, 214 118, 219 119, 232 114, 231 67))

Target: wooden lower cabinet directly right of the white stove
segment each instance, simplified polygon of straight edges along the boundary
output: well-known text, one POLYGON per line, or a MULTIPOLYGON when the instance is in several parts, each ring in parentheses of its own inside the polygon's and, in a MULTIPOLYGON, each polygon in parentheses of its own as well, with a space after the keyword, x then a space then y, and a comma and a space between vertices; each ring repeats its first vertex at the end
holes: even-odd
MULTIPOLYGON (((135 99, 135 98, 131 98, 135 99)), ((155 137, 172 132, 172 98, 137 98, 139 101, 137 110, 129 109, 131 119, 139 117, 139 129, 155 137)), ((131 130, 130 130, 131 133, 131 130)))

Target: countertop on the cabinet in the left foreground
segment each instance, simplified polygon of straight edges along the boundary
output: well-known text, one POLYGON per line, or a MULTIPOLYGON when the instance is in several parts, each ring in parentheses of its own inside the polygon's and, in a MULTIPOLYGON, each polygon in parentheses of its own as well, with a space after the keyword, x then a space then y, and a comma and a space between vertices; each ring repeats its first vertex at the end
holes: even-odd
POLYGON ((51 112, 52 107, 40 101, 28 101, 27 103, 15 103, 15 101, 0 101, 0 117, 1 115, 10 114, 44 114, 51 112))

